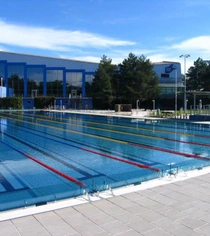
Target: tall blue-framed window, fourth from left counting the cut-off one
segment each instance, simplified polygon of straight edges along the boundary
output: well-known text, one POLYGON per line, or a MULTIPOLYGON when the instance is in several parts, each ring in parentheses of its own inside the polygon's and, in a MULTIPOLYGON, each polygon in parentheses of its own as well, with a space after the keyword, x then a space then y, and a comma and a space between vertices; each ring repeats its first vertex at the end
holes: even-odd
POLYGON ((63 96, 63 70, 47 70, 47 96, 63 96))

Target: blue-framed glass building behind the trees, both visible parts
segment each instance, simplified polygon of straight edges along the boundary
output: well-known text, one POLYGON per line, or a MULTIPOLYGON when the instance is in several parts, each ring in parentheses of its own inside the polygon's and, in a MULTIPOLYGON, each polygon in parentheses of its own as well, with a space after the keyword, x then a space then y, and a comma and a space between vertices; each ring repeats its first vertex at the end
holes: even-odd
MULTIPOLYGON (((1 87, 10 97, 84 98, 85 82, 92 82, 97 68, 98 63, 0 51, 1 87)), ((154 71, 162 94, 183 89, 180 63, 154 63, 154 71)))

